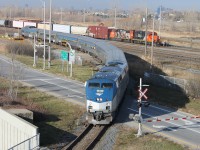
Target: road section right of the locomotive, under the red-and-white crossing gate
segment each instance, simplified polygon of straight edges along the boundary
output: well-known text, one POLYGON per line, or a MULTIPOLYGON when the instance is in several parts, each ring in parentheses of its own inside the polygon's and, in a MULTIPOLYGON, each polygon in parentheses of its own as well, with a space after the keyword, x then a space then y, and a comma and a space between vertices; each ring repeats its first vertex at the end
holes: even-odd
MULTIPOLYGON (((138 122, 128 117, 129 114, 139 114, 138 110, 137 100, 126 96, 117 122, 124 122, 130 127, 138 128, 138 122)), ((200 119, 191 119, 192 116, 192 114, 156 104, 151 104, 149 107, 142 106, 142 128, 145 132, 150 131, 152 134, 162 135, 193 149, 200 149, 200 119), (147 122, 147 120, 152 122, 147 122)))

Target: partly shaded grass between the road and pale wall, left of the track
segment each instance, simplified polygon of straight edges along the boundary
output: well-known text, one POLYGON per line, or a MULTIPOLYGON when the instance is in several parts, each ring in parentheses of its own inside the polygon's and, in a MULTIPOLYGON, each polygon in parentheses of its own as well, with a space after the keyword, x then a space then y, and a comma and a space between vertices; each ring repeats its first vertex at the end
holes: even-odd
POLYGON ((8 81, 0 78, 1 106, 33 111, 34 124, 39 127, 41 146, 69 142, 75 137, 71 132, 76 128, 76 120, 84 113, 81 106, 24 86, 20 86, 18 98, 10 102, 6 92, 8 87, 8 81))

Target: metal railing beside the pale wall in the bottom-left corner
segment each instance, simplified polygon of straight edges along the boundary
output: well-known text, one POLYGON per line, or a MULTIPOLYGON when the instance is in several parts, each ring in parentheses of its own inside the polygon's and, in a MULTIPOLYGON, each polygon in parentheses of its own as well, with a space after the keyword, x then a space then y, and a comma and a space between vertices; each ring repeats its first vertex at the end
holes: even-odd
POLYGON ((40 134, 37 134, 8 150, 39 150, 40 146, 40 134))

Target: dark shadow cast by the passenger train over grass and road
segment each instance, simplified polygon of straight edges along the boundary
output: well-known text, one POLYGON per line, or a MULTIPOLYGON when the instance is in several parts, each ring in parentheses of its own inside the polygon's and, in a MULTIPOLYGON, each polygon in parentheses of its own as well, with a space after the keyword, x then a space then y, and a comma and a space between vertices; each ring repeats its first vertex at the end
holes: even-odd
MULTIPOLYGON (((161 69, 155 66, 151 67, 151 64, 138 56, 128 53, 125 53, 125 56, 129 65, 130 81, 116 123, 132 121, 128 118, 129 114, 138 114, 137 99, 139 96, 138 86, 140 78, 143 79, 143 84, 149 85, 149 87, 143 87, 143 90, 148 88, 146 95, 148 97, 148 102, 151 103, 150 107, 144 107, 144 105, 142 105, 142 113, 150 114, 143 115, 143 119, 176 112, 178 108, 184 108, 186 104, 189 103, 188 96, 182 88, 177 85, 173 85, 175 88, 169 89, 160 85, 158 86, 156 82, 144 81, 145 72, 166 75, 161 69)), ((168 80, 162 82, 167 85, 172 85, 168 80)))

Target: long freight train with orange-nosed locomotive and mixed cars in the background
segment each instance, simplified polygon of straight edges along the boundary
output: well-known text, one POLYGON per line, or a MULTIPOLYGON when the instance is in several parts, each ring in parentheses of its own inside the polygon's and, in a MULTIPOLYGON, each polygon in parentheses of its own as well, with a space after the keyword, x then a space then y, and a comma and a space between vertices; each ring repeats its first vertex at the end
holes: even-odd
POLYGON ((98 26, 77 26, 52 23, 50 25, 48 22, 43 23, 41 20, 23 19, 0 20, 0 26, 19 29, 25 26, 32 26, 38 29, 52 29, 52 31, 55 32, 79 34, 97 39, 117 40, 122 42, 126 41, 131 43, 145 43, 146 38, 147 44, 151 44, 152 40, 156 45, 162 44, 161 39, 156 32, 147 32, 146 35, 145 31, 117 29, 113 27, 106 27, 103 24, 98 26))

